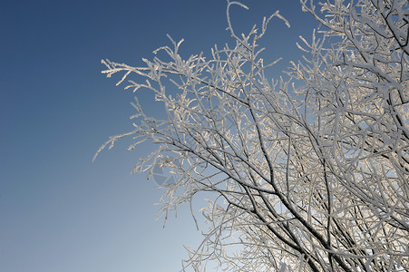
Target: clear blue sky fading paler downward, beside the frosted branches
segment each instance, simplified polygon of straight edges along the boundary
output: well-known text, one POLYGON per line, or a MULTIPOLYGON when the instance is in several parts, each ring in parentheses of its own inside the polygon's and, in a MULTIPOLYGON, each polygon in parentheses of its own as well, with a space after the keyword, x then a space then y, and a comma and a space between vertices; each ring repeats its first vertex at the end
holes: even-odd
MULTIPOLYGON (((262 44, 264 58, 297 60, 296 41, 316 25, 297 0, 242 1, 231 10, 248 32, 277 9, 262 44)), ((161 189, 133 163, 152 146, 131 141, 95 151, 131 130, 135 94, 106 79, 101 59, 141 65, 185 39, 181 54, 209 55, 232 44, 224 0, 3 1, 0 6, 0 271, 178 271, 182 245, 200 243, 188 207, 166 228, 156 220, 161 189)), ((150 92, 136 93, 155 111, 150 92)), ((210 269, 211 270, 211 269, 210 269)))

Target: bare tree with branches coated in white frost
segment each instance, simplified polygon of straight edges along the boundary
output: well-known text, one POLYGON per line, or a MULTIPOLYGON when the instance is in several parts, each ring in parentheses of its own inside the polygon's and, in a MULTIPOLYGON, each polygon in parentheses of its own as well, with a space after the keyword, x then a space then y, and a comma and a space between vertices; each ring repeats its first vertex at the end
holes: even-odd
POLYGON ((119 83, 137 74, 126 89, 150 90, 166 112, 147 116, 135 99, 133 131, 102 149, 157 144, 134 171, 177 178, 162 185, 165 218, 208 194, 209 229, 184 268, 408 271, 408 1, 302 0, 320 26, 277 80, 258 40, 272 18, 287 21, 275 13, 239 35, 232 5, 246 6, 228 1, 234 46, 184 60, 170 39, 142 67, 102 61, 119 83))

